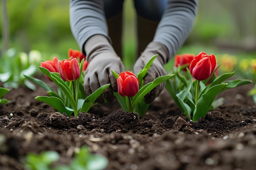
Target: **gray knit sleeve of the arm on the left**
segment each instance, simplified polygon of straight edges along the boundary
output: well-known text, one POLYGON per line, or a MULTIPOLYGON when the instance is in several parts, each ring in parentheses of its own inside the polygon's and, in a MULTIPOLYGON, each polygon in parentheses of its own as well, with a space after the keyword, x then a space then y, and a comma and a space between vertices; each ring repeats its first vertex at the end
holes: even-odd
POLYGON ((102 0, 70 0, 70 27, 81 51, 92 35, 108 37, 108 26, 102 0))

